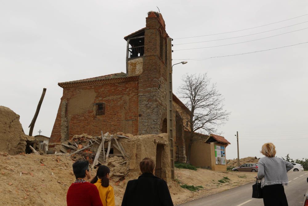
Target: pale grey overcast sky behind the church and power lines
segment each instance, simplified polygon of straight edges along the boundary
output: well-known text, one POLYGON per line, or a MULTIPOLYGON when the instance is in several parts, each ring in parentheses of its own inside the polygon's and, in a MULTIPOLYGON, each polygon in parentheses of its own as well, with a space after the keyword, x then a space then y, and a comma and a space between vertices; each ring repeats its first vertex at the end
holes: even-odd
MULTIPOLYGON (((145 27, 150 10, 160 12, 173 50, 260 39, 308 27, 308 1, 1 1, 0 105, 20 115, 27 134, 44 87, 45 99, 33 134, 50 136, 62 88, 57 83, 126 72, 124 36, 145 27), (305 15, 299 18, 291 19, 305 15), (263 27, 261 25, 270 24, 263 27), (301 23, 301 24, 298 24, 301 23), (298 24, 291 27, 290 25, 298 24), (231 32, 257 27, 240 32, 231 32), (265 32, 281 27, 271 32, 265 32), (213 36, 177 39, 231 32, 213 36)), ((247 43, 174 51, 173 59, 248 53, 308 41, 308 29, 247 43)), ((308 158, 308 44, 203 61, 173 68, 173 88, 186 72, 205 73, 217 83, 232 112, 219 128, 231 142, 228 159, 262 157, 261 145, 273 142, 277 156, 308 158), (255 133, 253 133, 255 132, 255 133), (257 133, 259 132, 259 133, 257 133), (262 132, 262 133, 261 133, 262 132), (306 138, 306 139, 304 139, 306 138)), ((182 60, 173 60, 178 63, 182 60)))

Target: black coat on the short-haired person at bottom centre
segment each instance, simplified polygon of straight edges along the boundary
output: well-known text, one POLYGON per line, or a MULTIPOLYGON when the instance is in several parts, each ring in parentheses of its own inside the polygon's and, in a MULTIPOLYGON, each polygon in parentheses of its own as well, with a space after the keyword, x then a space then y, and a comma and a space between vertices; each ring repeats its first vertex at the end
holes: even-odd
POLYGON ((122 206, 173 206, 167 183, 152 173, 143 173, 127 183, 122 206))

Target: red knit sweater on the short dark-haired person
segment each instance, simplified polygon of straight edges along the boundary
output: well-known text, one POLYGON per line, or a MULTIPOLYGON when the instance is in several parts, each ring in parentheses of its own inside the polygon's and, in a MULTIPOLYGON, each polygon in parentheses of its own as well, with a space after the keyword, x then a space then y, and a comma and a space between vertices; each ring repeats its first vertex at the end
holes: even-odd
POLYGON ((94 184, 72 183, 66 195, 67 206, 103 206, 94 184))

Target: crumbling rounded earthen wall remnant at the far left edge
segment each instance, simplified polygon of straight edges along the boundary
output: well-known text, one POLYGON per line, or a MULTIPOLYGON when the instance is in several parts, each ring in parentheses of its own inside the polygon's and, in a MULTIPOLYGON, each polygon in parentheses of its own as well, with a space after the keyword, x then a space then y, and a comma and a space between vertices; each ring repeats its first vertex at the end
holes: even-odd
POLYGON ((10 155, 24 153, 26 141, 34 140, 23 132, 19 115, 8 107, 0 106, 0 152, 10 155))

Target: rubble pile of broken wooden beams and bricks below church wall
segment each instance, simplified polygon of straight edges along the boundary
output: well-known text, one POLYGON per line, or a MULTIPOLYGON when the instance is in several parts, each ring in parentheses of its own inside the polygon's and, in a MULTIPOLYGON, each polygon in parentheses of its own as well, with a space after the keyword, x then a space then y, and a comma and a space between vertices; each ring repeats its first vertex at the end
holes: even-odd
POLYGON ((130 139, 123 133, 109 135, 107 132, 100 137, 75 135, 61 144, 60 151, 69 153, 68 156, 73 161, 88 160, 92 168, 107 165, 111 171, 110 177, 118 176, 124 179, 129 172, 129 155, 125 152, 120 138, 130 139))

